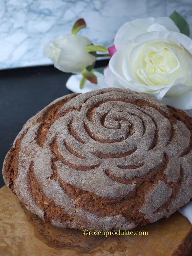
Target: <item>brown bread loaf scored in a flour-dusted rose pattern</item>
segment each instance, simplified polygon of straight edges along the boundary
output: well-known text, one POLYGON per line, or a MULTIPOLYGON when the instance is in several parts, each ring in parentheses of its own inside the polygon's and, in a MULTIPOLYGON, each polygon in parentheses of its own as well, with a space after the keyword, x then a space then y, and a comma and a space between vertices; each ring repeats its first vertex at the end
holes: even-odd
POLYGON ((26 208, 59 227, 132 229, 192 197, 192 118, 142 93, 69 94, 28 120, 4 180, 26 208))

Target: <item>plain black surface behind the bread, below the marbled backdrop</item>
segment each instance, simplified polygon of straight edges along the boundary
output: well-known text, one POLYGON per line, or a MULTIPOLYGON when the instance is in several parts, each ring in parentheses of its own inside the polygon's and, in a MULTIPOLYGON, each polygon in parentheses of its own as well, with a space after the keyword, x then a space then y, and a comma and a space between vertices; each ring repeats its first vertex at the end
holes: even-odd
MULTIPOLYGON (((96 68, 108 60, 96 62, 96 68)), ((2 166, 7 152, 27 120, 53 100, 71 93, 65 84, 71 74, 53 66, 0 71, 0 188, 4 186, 2 166)))

